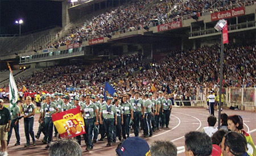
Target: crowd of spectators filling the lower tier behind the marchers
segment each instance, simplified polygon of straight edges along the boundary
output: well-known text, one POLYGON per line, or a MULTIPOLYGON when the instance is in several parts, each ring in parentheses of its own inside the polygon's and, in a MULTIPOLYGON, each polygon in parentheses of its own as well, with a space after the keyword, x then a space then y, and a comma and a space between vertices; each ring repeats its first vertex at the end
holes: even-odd
MULTIPOLYGON (((19 88, 66 92, 67 88, 103 90, 110 82, 125 92, 151 89, 175 91, 175 99, 196 99, 197 88, 219 86, 220 45, 196 50, 174 50, 160 61, 148 62, 140 54, 123 55, 92 65, 53 66, 16 79, 19 88), (137 71, 137 72, 135 72, 137 71), (116 81, 114 81, 116 80, 116 81)), ((256 45, 226 45, 224 50, 224 87, 255 87, 256 45)))

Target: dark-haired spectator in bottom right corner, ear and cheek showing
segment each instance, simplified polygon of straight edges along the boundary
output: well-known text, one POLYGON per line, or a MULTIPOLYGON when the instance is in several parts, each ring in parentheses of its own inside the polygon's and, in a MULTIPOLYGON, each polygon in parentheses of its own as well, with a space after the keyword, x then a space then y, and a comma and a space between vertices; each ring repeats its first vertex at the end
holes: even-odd
POLYGON ((222 154, 223 156, 249 156, 249 154, 246 153, 246 144, 246 138, 243 136, 243 134, 237 132, 229 132, 221 142, 222 154))

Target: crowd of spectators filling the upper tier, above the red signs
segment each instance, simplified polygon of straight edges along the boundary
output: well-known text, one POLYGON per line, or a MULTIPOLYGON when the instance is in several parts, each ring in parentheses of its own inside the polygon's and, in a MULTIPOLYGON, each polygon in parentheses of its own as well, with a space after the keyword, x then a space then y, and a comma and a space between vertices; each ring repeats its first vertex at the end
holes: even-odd
POLYGON ((41 49, 82 43, 85 40, 113 35, 117 31, 144 29, 144 27, 155 26, 153 23, 163 24, 172 20, 195 18, 195 16, 198 18, 205 12, 229 10, 256 3, 255 0, 164 0, 150 5, 153 2, 152 0, 129 1, 116 9, 86 20, 82 26, 71 28, 70 33, 59 41, 41 49), (146 6, 149 6, 149 9, 146 9, 146 6))

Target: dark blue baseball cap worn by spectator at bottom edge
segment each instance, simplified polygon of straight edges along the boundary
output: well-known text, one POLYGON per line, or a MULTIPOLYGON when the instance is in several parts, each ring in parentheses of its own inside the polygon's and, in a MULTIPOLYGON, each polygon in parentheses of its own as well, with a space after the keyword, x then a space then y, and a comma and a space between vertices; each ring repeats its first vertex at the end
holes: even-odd
POLYGON ((140 137, 129 137, 122 142, 119 149, 115 152, 118 155, 136 155, 136 156, 149 156, 150 146, 147 144, 146 140, 140 137))

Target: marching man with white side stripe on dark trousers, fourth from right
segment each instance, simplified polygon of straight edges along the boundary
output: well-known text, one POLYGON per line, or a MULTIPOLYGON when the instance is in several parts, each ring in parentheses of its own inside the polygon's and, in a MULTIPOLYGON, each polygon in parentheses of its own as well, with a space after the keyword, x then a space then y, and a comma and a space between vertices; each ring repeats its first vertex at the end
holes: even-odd
POLYGON ((152 113, 154 115, 154 109, 152 109, 152 102, 149 99, 149 95, 145 94, 144 95, 144 106, 143 106, 143 115, 142 115, 142 119, 143 119, 143 131, 144 131, 144 136, 148 137, 148 136, 152 136, 153 132, 152 132, 152 127, 151 127, 151 117, 152 117, 152 113))

